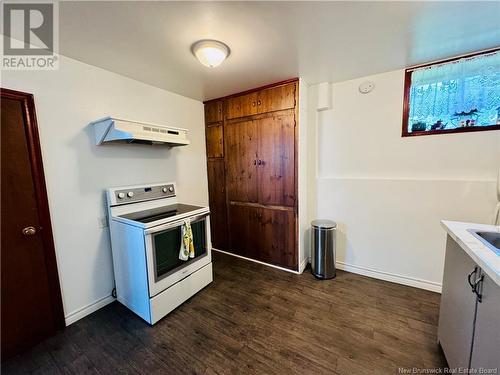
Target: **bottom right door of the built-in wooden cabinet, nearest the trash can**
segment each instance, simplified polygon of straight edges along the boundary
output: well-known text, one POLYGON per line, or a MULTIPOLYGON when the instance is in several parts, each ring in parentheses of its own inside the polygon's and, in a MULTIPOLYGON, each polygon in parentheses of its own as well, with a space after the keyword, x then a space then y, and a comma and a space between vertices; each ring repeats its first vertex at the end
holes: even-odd
POLYGON ((295 251, 295 213, 289 209, 259 210, 259 253, 257 259, 297 269, 295 251))

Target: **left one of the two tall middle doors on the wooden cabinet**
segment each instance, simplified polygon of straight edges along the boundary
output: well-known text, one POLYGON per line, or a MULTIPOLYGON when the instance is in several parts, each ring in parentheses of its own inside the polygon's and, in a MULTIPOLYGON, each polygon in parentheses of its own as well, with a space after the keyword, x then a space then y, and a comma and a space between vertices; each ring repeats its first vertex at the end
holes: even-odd
POLYGON ((257 126, 255 121, 224 129, 229 201, 257 202, 257 126))

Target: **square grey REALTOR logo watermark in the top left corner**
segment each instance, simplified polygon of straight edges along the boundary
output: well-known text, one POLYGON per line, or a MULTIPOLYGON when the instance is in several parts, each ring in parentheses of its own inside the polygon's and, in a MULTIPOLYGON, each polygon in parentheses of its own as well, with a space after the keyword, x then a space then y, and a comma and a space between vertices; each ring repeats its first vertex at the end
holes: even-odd
POLYGON ((57 2, 2 2, 4 70, 58 68, 57 2))

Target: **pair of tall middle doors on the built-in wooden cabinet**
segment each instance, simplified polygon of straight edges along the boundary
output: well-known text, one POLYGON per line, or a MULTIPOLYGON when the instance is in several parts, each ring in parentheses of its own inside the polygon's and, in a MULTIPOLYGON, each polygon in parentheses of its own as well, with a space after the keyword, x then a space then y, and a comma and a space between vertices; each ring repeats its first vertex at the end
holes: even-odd
POLYGON ((230 201, 295 205, 293 113, 226 125, 230 201))

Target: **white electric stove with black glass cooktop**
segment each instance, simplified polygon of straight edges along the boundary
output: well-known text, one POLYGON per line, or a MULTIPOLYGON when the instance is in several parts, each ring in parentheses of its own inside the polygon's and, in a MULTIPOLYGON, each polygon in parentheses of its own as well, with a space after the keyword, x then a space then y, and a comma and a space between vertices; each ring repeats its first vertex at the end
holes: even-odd
POLYGON ((210 211, 177 202, 175 183, 107 190, 118 301, 149 324, 210 284, 210 211), (189 220, 195 257, 179 259, 181 226, 189 220))

